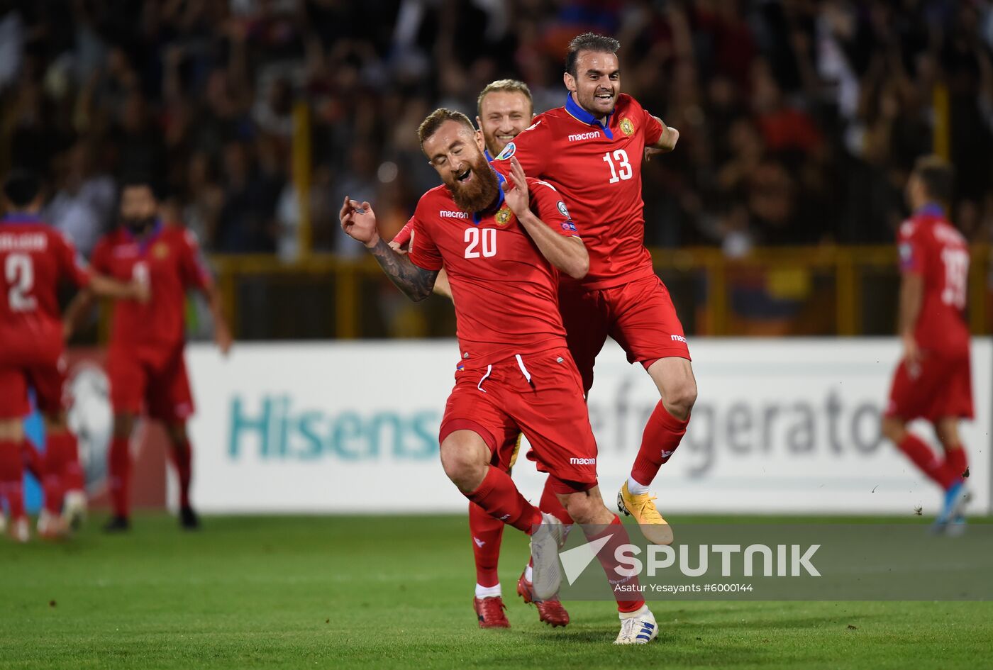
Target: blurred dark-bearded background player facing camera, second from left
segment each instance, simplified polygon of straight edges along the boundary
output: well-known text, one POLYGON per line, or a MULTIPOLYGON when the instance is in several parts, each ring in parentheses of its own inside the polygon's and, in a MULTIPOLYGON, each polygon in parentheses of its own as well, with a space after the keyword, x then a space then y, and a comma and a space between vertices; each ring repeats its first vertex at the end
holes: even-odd
MULTIPOLYGON (((214 338, 222 353, 231 335, 220 310, 220 299, 202 264, 193 235, 159 218, 159 202, 150 180, 135 179, 121 192, 122 225, 104 236, 93 250, 92 265, 99 272, 148 286, 147 304, 118 301, 114 307, 107 375, 114 411, 108 475, 113 517, 107 531, 130 527, 129 443, 135 419, 144 408, 162 421, 180 483, 180 522, 198 528, 200 521, 190 503, 192 453, 186 422, 194 412, 193 395, 184 359, 186 292, 197 289, 207 298, 213 315, 214 338)), ((80 294, 67 316, 68 328, 88 311, 92 298, 80 294)))

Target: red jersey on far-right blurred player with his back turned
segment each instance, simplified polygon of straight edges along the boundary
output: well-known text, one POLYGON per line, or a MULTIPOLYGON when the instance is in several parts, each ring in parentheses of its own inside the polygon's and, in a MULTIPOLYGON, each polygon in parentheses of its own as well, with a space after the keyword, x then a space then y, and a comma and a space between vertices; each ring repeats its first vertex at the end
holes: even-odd
POLYGON ((923 277, 921 314, 914 337, 922 349, 940 355, 967 352, 965 293, 969 247, 937 205, 927 205, 900 226, 901 271, 923 277))

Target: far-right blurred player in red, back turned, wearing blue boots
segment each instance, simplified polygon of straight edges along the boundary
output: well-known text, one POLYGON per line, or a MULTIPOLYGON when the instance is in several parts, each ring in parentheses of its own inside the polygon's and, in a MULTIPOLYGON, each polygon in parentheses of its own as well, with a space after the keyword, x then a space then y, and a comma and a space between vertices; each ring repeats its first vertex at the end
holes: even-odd
POLYGON ((933 529, 954 534, 964 530, 963 511, 969 501, 968 462, 958 420, 972 418, 972 380, 963 312, 969 248, 944 213, 951 182, 951 168, 926 156, 918 160, 907 183, 914 213, 900 226, 898 237, 904 356, 893 377, 883 433, 944 489, 944 506, 933 529), (943 460, 907 430, 908 422, 918 418, 933 424, 943 460))

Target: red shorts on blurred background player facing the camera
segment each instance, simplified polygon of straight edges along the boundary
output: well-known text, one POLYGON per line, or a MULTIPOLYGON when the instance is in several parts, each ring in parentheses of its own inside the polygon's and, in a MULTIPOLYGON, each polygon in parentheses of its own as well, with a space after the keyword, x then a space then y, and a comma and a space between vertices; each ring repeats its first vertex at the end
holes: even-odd
POLYGON ((163 353, 154 349, 111 348, 107 353, 110 403, 114 413, 138 414, 168 423, 193 416, 193 393, 183 349, 163 353))

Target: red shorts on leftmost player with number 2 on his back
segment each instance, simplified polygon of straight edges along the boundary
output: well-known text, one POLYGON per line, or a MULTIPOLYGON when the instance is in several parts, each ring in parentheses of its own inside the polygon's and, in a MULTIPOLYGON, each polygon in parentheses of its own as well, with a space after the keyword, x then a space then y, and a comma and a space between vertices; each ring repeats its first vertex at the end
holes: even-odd
POLYGON ((56 413, 63 409, 66 361, 62 326, 0 334, 0 419, 31 413, 28 388, 35 389, 38 409, 56 413))

